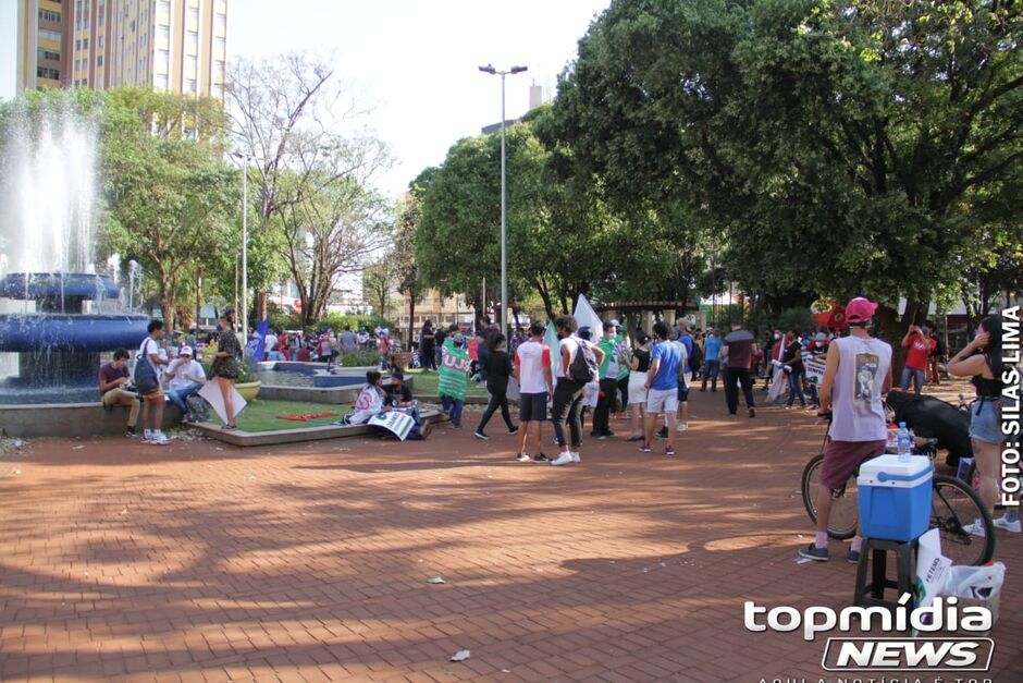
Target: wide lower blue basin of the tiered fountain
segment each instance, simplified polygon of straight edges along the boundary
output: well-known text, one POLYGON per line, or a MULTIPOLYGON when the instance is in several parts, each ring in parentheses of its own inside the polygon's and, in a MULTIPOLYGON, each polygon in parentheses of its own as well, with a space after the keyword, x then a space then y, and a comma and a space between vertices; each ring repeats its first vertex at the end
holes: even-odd
POLYGON ((0 351, 113 351, 141 344, 146 316, 66 315, 57 313, 0 315, 0 351))

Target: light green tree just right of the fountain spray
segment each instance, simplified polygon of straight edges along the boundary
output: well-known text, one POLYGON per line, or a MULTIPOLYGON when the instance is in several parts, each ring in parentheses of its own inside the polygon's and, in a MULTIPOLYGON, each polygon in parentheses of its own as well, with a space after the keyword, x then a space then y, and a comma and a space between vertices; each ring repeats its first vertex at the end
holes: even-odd
POLYGON ((173 127, 160 117, 186 120, 190 110, 182 96, 115 89, 103 117, 104 241, 155 280, 171 330, 188 273, 230 248, 238 205, 239 179, 222 160, 215 130, 206 137, 151 133, 173 127))

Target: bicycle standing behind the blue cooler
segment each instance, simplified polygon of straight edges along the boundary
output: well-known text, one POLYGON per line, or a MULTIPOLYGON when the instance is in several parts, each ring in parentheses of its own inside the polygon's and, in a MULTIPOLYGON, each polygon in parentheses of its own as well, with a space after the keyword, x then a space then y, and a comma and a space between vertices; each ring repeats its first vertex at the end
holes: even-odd
MULTIPOLYGON (((830 417, 830 416, 829 416, 830 417)), ((828 420, 830 425, 830 419, 828 420)), ((827 443, 827 431, 824 443, 827 443)), ((937 455, 937 439, 915 439, 914 452, 926 455, 933 462, 937 455)), ((824 449, 810 459, 803 468, 803 505, 810 520, 817 523, 816 492, 819 484, 821 465, 824 463, 824 449)), ((860 524, 860 509, 856 501, 856 476, 860 468, 852 473, 840 490, 831 491, 831 513, 828 517, 828 536, 846 540, 855 536, 860 524)), ((995 525, 990 512, 984 507, 981 497, 966 483, 957 477, 940 474, 933 475, 933 495, 930 498, 930 525, 941 534, 941 552, 953 564, 981 565, 990 562, 995 554, 995 525), (974 520, 984 525, 984 537, 973 536, 967 529, 974 520)))

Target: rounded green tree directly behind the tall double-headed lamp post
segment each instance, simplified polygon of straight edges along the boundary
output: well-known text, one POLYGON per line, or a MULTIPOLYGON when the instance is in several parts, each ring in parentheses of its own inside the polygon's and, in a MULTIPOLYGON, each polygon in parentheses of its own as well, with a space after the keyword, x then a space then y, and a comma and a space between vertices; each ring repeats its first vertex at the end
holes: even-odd
MULTIPOLYGON (((611 277, 638 239, 601 203, 592 179, 558 175, 537 135, 544 115, 506 131, 509 307, 535 291, 553 317, 611 277)), ((459 141, 417 195, 419 276, 444 294, 465 292, 478 310, 480 283, 501 272, 500 154, 497 135, 459 141)))

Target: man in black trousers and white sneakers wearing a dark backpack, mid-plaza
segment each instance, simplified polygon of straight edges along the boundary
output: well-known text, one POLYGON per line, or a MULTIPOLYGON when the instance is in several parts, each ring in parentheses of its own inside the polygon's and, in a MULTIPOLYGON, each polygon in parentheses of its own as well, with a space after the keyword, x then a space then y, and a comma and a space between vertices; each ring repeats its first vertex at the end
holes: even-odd
POLYGON ((600 375, 597 368, 604 362, 604 352, 576 337, 578 324, 572 316, 558 316, 554 320, 554 328, 562 342, 562 362, 557 369, 551 416, 554 422, 554 437, 562 453, 552 460, 551 464, 560 466, 581 461, 579 448, 582 446, 582 390, 600 375), (571 436, 570 447, 565 440, 566 422, 571 436))

